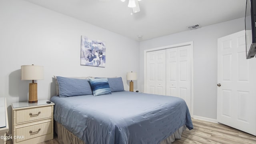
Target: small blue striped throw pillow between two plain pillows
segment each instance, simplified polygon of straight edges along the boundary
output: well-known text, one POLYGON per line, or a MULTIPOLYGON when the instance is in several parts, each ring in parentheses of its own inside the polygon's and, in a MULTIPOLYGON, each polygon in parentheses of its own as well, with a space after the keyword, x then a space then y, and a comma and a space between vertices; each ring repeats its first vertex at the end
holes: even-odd
POLYGON ((99 96, 103 94, 112 94, 109 88, 107 78, 89 78, 89 80, 92 86, 92 94, 94 96, 99 96))

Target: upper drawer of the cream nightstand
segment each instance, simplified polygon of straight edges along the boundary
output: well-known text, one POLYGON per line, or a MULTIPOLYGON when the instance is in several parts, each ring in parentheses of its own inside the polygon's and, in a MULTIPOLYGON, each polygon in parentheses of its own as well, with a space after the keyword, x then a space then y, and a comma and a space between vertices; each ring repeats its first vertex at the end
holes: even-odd
POLYGON ((28 108, 16 111, 16 123, 29 122, 31 120, 39 120, 42 118, 52 117, 52 106, 44 106, 40 108, 28 108))

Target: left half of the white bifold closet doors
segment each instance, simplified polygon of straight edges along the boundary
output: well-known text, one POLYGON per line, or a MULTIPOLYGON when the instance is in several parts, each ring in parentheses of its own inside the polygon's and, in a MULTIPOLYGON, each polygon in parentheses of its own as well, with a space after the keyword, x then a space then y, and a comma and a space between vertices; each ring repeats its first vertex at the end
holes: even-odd
POLYGON ((165 50, 147 52, 146 93, 166 95, 165 50))

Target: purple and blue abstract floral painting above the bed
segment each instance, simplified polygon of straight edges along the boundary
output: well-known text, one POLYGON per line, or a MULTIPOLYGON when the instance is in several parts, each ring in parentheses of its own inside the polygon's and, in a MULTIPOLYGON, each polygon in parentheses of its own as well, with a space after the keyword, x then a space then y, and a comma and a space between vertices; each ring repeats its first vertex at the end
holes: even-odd
POLYGON ((105 67, 106 45, 100 40, 81 36, 81 65, 105 67))

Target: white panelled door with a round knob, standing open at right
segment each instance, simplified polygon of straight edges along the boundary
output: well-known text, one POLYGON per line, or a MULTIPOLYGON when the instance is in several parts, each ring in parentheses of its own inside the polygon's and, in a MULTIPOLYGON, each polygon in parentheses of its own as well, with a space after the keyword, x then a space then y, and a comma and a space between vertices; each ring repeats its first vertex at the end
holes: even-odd
POLYGON ((217 121, 256 135, 256 58, 246 60, 245 32, 218 39, 217 121))

